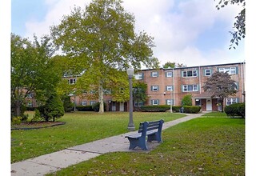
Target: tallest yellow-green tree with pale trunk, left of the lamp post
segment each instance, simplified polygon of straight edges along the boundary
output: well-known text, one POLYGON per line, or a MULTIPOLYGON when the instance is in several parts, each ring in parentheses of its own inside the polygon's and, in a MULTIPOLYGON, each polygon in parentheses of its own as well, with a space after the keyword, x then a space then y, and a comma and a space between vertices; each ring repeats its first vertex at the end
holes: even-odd
POLYGON ((93 0, 84 10, 75 7, 60 25, 51 27, 54 43, 74 62, 76 70, 84 70, 80 90, 94 90, 88 96, 98 97, 100 113, 104 112, 104 90, 111 90, 114 100, 127 100, 128 67, 158 67, 152 50, 154 38, 144 31, 136 34, 134 22, 134 15, 124 10, 121 0, 93 0))

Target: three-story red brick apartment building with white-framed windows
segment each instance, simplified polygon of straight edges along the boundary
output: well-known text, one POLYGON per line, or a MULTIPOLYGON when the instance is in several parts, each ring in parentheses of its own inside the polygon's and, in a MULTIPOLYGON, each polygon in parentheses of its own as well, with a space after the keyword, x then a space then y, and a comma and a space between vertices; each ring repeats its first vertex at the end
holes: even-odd
MULTIPOLYGON (((159 70, 139 70, 134 74, 134 78, 139 82, 147 84, 147 102, 134 102, 134 107, 143 105, 173 105, 181 106, 182 98, 192 95, 194 106, 201 106, 202 111, 221 110, 218 98, 211 98, 202 89, 207 78, 218 71, 228 72, 230 77, 237 84, 237 94, 224 100, 223 105, 228 106, 237 102, 245 102, 245 62, 190 66, 182 68, 170 68, 159 70)), ((70 84, 75 84, 78 77, 64 76, 70 84)), ((92 93, 93 94, 93 93, 92 93)), ((97 99, 86 99, 82 96, 71 96, 76 106, 93 105, 97 99)), ((114 102, 110 94, 104 95, 107 111, 128 111, 129 102, 114 102)), ((35 106, 33 101, 29 101, 28 106, 35 106)))

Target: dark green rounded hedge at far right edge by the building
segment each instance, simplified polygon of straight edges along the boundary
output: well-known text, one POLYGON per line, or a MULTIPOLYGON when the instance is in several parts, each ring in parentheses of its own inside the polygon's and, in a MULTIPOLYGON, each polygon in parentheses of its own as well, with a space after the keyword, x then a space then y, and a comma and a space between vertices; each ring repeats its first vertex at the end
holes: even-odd
POLYGON ((224 109, 227 116, 242 116, 246 117, 246 104, 245 103, 235 103, 230 106, 226 106, 224 109))

